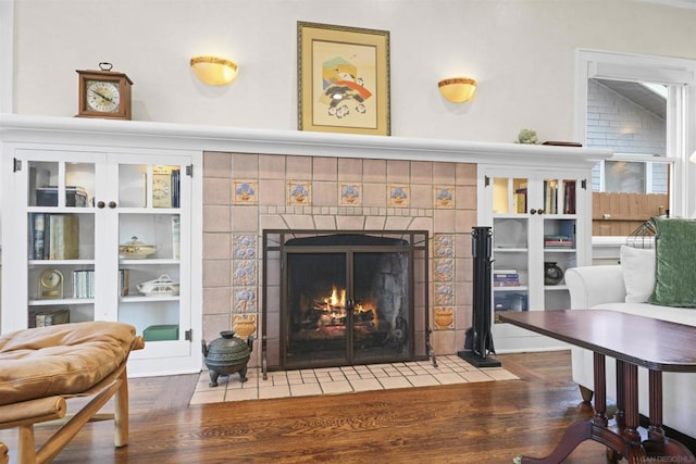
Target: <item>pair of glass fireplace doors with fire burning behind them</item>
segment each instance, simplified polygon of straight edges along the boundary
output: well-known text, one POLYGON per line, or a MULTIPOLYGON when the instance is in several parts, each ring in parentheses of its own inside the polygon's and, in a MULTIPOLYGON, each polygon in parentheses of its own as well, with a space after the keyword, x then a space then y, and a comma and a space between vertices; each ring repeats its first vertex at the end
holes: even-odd
POLYGON ((411 356, 408 252, 316 248, 287 266, 286 368, 411 356))

